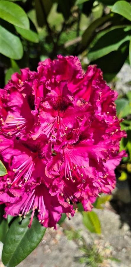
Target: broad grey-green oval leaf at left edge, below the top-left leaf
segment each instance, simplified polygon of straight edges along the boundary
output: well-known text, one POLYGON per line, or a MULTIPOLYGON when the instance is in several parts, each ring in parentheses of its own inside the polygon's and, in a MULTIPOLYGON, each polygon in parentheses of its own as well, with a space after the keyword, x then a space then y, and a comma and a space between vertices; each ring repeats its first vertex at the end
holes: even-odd
POLYGON ((0 26, 0 53, 13 59, 21 59, 23 47, 19 37, 0 26))

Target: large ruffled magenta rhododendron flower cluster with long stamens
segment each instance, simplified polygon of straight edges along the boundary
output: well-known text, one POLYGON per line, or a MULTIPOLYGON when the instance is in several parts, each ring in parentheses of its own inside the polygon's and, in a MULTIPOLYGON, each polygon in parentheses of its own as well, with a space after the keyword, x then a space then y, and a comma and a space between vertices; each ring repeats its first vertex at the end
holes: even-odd
POLYGON ((117 93, 95 65, 83 71, 77 57, 46 59, 37 72, 15 73, 0 89, 0 202, 8 214, 31 210, 45 227, 62 213, 85 211, 115 187, 114 169, 125 136, 116 117, 117 93))

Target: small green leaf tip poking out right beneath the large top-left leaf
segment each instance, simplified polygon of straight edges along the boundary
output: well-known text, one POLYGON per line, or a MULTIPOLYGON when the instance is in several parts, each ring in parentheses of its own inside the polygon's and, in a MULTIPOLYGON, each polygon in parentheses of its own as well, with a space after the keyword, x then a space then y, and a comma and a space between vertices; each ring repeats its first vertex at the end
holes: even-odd
POLYGON ((22 28, 16 27, 16 26, 15 26, 15 28, 16 28, 17 32, 22 37, 27 39, 28 41, 33 42, 33 43, 38 43, 39 42, 39 37, 38 37, 38 34, 36 32, 31 31, 31 30, 25 30, 25 29, 22 29, 22 28))

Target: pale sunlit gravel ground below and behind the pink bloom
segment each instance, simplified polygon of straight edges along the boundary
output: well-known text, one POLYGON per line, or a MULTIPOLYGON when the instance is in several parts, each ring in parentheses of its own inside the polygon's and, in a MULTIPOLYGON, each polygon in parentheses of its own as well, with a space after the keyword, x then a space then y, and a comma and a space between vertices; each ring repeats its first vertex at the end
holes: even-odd
MULTIPOLYGON (((126 93, 131 90, 131 86, 127 84, 129 81, 131 81, 131 69, 128 64, 124 64, 117 75, 116 89, 119 93, 126 93)), ((131 267, 131 231, 129 224, 121 223, 121 217, 115 213, 108 202, 103 210, 97 209, 95 211, 101 221, 101 235, 88 232, 82 223, 80 213, 76 213, 71 220, 66 219, 63 228, 81 229, 87 244, 94 242, 102 255, 120 260, 120 262, 104 260, 98 267, 131 267)), ((128 209, 128 212, 131 218, 130 209, 128 209)), ((128 217, 128 214, 126 216, 128 217)), ((57 230, 48 228, 38 247, 18 267, 84 267, 85 264, 76 261, 76 258, 82 255, 82 252, 78 249, 75 241, 67 239, 63 228, 59 226, 57 230)), ((2 251, 2 243, 0 244, 0 251, 2 251)), ((3 263, 0 262, 0 267, 3 266, 3 263)))

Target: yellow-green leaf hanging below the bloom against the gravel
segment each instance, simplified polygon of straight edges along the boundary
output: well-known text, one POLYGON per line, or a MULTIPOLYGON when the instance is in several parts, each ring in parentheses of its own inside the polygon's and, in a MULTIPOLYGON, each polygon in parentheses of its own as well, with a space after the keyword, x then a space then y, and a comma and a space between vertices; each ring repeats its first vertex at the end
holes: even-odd
POLYGON ((101 224, 96 212, 82 212, 83 223, 91 233, 101 233, 101 224))

